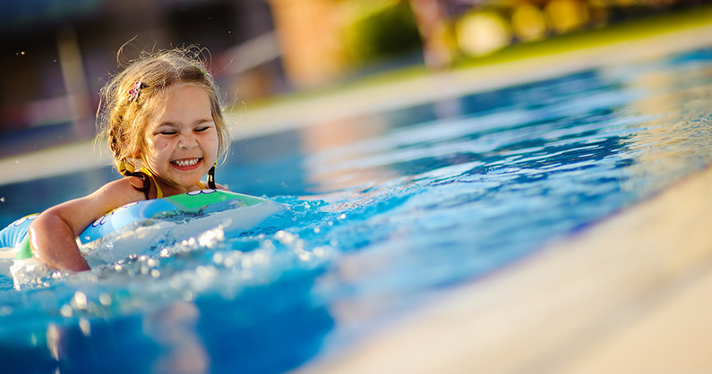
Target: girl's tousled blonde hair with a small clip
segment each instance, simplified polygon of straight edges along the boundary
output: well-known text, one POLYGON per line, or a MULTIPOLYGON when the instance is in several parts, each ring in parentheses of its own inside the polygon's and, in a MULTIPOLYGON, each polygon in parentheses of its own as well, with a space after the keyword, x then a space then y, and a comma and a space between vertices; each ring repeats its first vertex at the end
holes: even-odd
POLYGON ((219 154, 227 152, 229 135, 218 87, 205 69, 200 55, 202 50, 196 47, 143 53, 101 90, 97 139, 107 140, 119 173, 129 175, 141 166, 142 157, 148 149, 146 132, 149 118, 160 115, 165 109, 167 89, 176 84, 191 84, 205 89, 218 132, 219 154), (138 95, 135 92, 132 94, 136 84, 141 87, 138 95))

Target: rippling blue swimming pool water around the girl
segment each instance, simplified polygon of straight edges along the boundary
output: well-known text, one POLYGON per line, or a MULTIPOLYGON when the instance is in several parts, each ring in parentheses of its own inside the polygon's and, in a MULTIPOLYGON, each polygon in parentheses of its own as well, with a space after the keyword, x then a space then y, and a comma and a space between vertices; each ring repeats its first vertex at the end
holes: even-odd
MULTIPOLYGON (((338 354, 708 166, 711 71, 701 50, 236 142, 218 181, 286 211, 150 248, 125 233, 90 272, 19 291, 3 277, 2 371, 278 372, 338 354)), ((0 186, 0 225, 113 178, 0 186)))

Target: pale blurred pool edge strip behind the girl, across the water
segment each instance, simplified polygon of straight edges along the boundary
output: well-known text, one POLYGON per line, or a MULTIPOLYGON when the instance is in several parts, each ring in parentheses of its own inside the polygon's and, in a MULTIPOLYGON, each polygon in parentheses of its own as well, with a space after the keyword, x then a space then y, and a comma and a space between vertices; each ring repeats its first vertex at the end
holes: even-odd
MULTIPOLYGON (((570 52, 540 55, 502 64, 433 72, 404 81, 340 91, 328 97, 307 98, 227 114, 233 140, 404 106, 447 101, 462 95, 542 81, 573 72, 712 46, 712 24, 667 31, 570 52), (403 95, 407 92, 407 95, 403 95)), ((90 170, 111 165, 105 145, 85 140, 51 149, 0 159, 0 185, 90 170)))

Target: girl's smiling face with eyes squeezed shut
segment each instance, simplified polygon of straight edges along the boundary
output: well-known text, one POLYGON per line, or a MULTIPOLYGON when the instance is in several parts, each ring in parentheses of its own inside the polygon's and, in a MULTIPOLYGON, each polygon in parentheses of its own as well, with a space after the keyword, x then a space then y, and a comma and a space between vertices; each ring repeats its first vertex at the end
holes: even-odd
POLYGON ((168 88, 165 111, 149 119, 146 135, 148 149, 143 160, 161 187, 174 193, 193 190, 218 159, 210 98, 201 87, 177 84, 168 88))

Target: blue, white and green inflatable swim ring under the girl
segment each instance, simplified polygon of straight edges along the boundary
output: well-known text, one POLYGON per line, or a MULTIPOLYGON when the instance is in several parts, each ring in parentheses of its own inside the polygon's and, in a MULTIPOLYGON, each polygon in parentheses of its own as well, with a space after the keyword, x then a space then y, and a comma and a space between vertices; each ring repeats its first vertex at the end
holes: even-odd
MULTIPOLYGON (((173 195, 163 199, 143 200, 116 208, 99 217, 80 235, 82 244, 95 242, 107 234, 115 233, 126 225, 141 223, 150 219, 167 217, 196 217, 217 213, 233 208, 253 207, 264 204, 265 208, 251 211, 259 217, 250 217, 249 223, 256 225, 266 217, 279 210, 279 204, 241 193, 222 190, 191 191, 173 195)), ((0 231, 0 248, 12 249, 14 259, 29 259, 32 257, 27 230, 37 214, 21 217, 0 231)), ((247 221, 246 221, 247 222, 247 221)), ((0 257, 8 258, 7 255, 0 257)))

